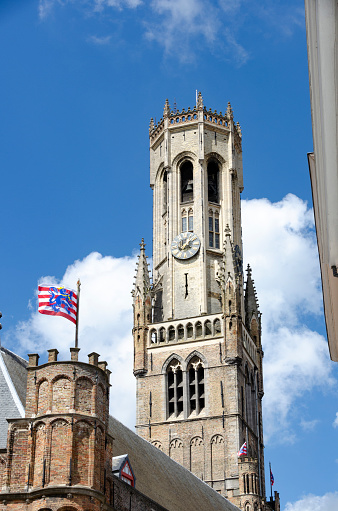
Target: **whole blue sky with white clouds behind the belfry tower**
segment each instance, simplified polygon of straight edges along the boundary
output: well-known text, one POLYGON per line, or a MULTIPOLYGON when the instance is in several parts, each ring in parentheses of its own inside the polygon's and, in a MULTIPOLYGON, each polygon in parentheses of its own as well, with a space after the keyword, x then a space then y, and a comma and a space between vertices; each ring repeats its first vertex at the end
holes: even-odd
POLYGON ((130 290, 138 243, 150 256, 152 239, 149 120, 167 97, 192 107, 196 89, 212 110, 231 101, 244 256, 265 322, 266 464, 282 509, 338 507, 303 1, 3 0, 0 48, 2 342, 22 355, 68 349, 72 326, 38 317, 36 288, 80 276, 83 356, 95 339, 131 403, 112 398, 112 411, 132 427, 130 290))

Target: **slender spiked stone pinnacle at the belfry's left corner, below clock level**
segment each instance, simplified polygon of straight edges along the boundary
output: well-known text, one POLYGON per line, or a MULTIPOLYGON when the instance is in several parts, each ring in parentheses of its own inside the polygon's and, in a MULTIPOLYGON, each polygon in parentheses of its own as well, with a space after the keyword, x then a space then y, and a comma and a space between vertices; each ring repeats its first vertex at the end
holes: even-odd
POLYGON ((148 325, 151 323, 151 284, 144 239, 140 243, 140 255, 136 268, 133 296, 134 308, 134 374, 147 371, 148 325))

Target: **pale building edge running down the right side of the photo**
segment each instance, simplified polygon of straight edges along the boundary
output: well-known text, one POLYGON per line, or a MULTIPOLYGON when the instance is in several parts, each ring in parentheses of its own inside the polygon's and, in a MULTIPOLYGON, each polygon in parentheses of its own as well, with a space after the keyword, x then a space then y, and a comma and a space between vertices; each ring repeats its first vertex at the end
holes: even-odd
POLYGON ((314 153, 308 155, 324 311, 338 362, 338 2, 305 0, 314 153))

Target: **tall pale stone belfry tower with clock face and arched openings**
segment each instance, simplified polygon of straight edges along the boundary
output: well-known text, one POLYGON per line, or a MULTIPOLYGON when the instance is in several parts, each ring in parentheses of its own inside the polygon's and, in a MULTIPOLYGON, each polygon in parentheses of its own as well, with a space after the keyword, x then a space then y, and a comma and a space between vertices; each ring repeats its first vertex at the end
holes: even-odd
MULTIPOLYGON (((153 281, 142 240, 134 298, 139 435, 245 511, 265 502, 261 314, 247 270, 242 134, 197 105, 150 122, 153 281), (247 455, 238 457, 246 442, 247 455)), ((277 499, 276 499, 277 500, 277 499)))

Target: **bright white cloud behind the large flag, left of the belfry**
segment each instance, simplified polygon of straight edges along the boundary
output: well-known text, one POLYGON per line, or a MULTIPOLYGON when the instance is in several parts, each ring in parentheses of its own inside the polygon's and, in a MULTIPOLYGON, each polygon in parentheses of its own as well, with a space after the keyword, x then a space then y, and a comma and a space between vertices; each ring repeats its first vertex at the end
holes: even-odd
MULTIPOLYGON (((62 283, 75 287, 81 280, 79 347, 80 358, 96 351, 101 360, 107 360, 111 374, 111 413, 129 427, 135 423, 135 378, 133 376, 133 341, 131 289, 136 268, 136 257, 102 257, 91 253, 70 265, 61 279, 43 277, 40 283, 62 283), (121 406, 125 403, 126 406, 121 406)), ((20 352, 39 353, 57 348, 59 360, 69 359, 69 348, 74 345, 73 323, 63 318, 46 316, 37 307, 27 322, 9 333, 9 339, 20 345, 20 352)))

